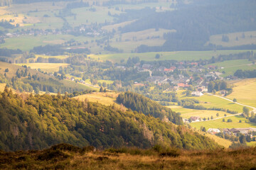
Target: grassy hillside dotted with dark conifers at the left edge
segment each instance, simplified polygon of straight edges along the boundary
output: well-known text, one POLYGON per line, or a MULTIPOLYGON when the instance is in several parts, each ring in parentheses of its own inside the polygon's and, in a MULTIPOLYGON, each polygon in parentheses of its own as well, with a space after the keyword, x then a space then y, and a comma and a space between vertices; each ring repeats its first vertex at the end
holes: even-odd
POLYGON ((74 91, 90 89, 88 86, 65 80, 63 77, 56 79, 35 69, 6 62, 0 62, 0 83, 6 83, 7 86, 20 92, 49 91, 51 93, 59 92, 64 94, 65 91, 73 93, 74 91))

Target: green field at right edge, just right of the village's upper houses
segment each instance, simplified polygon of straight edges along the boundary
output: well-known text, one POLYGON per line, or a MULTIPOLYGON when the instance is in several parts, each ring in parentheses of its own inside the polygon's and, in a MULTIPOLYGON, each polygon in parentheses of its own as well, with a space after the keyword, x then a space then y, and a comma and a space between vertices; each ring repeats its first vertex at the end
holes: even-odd
POLYGON ((255 64, 252 64, 252 62, 248 60, 229 60, 229 61, 217 62, 209 65, 218 66, 218 69, 215 70, 217 72, 224 71, 225 73, 222 74, 221 77, 227 77, 228 75, 233 75, 238 69, 242 69, 242 70, 256 69, 255 64))

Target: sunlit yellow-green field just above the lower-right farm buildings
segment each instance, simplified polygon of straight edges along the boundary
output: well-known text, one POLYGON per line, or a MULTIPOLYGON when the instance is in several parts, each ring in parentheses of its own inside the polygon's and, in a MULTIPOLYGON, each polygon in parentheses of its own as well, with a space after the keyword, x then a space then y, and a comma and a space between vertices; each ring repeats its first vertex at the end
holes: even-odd
POLYGON ((208 130, 208 128, 256 128, 256 123, 250 123, 249 120, 240 115, 225 118, 225 122, 223 122, 223 119, 218 119, 206 122, 190 123, 190 125, 198 130, 200 130, 201 126, 206 127, 206 130, 208 130), (228 123, 228 119, 231 119, 233 122, 228 123), (242 123, 239 123, 239 120, 242 120, 242 123), (247 123, 245 123, 245 120, 247 123))

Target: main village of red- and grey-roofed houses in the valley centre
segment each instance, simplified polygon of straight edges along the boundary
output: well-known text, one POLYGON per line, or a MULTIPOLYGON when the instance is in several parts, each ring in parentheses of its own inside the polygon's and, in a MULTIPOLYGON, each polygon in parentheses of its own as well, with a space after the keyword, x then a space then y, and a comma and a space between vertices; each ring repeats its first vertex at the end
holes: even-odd
MULTIPOLYGON (((127 69, 127 67, 122 65, 117 65, 116 68, 119 69, 127 69)), ((173 84, 173 89, 170 90, 178 90, 180 88, 188 88, 191 81, 196 83, 198 86, 198 90, 193 92, 193 96, 202 96, 202 92, 206 91, 206 86, 208 86, 208 82, 215 79, 223 79, 220 77, 221 73, 213 72, 211 69, 214 67, 204 67, 198 62, 175 62, 171 65, 171 67, 166 68, 164 66, 155 67, 153 64, 142 64, 139 63, 134 65, 134 68, 137 68, 139 72, 149 72, 150 77, 148 77, 147 81, 154 84, 173 84), (208 71, 206 74, 202 74, 204 71, 208 71), (188 71, 192 73, 198 73, 198 75, 202 75, 199 79, 195 79, 193 76, 187 76, 185 74, 170 74, 175 71, 188 71), (152 76, 154 72, 161 72, 163 76, 152 76)))

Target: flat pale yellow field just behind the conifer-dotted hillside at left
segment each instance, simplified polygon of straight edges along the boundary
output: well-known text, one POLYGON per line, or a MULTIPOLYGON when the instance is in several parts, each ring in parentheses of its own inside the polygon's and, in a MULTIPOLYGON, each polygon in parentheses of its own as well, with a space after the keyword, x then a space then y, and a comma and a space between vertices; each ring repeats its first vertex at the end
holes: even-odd
POLYGON ((41 69, 44 72, 58 72, 60 66, 67 67, 69 64, 66 63, 28 63, 28 64, 17 64, 19 66, 26 65, 31 69, 41 69))

